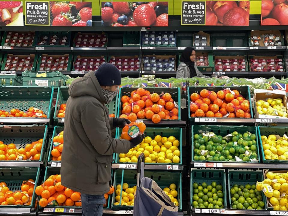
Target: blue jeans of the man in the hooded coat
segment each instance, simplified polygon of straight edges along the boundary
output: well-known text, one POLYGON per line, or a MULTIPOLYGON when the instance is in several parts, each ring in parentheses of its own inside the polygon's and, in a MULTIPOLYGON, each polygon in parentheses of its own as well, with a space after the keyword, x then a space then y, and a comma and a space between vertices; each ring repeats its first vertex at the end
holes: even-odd
POLYGON ((89 195, 81 193, 82 216, 102 216, 104 195, 89 195))

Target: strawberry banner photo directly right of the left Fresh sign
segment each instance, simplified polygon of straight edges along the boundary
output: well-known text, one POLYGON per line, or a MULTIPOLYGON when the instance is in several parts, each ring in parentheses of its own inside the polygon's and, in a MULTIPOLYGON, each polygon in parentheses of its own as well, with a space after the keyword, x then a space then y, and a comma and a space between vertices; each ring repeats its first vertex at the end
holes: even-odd
POLYGON ((50 26, 92 26, 92 2, 50 1, 50 26))

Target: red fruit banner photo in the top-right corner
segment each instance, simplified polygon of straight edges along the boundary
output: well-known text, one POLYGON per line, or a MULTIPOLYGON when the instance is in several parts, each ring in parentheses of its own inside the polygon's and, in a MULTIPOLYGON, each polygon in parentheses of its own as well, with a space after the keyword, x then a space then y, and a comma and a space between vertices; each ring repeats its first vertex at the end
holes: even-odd
POLYGON ((288 1, 262 0, 261 26, 288 25, 288 1))

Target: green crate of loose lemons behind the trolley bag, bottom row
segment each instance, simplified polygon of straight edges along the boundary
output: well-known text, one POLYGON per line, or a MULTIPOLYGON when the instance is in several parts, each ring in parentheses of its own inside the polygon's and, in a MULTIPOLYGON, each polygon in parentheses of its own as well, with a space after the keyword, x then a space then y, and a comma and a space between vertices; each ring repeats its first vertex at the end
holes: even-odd
MULTIPOLYGON (((174 183, 177 186, 177 200, 179 202, 179 211, 182 210, 182 173, 167 172, 167 171, 145 171, 144 176, 153 179, 159 187, 163 190, 165 187, 169 187, 170 184, 174 183)), ((136 170, 114 170, 114 182, 113 186, 116 191, 117 184, 121 184, 122 197, 123 183, 129 184, 129 187, 134 187, 137 184, 137 171, 136 170)), ((133 206, 128 205, 114 205, 115 192, 112 196, 112 209, 133 209, 133 206)))

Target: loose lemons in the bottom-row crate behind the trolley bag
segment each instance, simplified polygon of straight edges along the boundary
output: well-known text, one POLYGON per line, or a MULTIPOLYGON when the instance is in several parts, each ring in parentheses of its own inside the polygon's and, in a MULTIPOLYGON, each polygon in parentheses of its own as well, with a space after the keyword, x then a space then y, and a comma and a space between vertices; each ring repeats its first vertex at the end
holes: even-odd
MULTIPOLYGON (((136 189, 137 186, 129 187, 129 184, 123 183, 122 185, 122 194, 121 194, 121 184, 118 184, 116 186, 115 190, 115 202, 114 205, 134 205, 134 198, 136 195, 136 189), (121 202, 120 202, 121 199, 121 202)), ((178 192, 177 192, 177 186, 176 184, 170 184, 169 187, 165 187, 164 192, 169 198, 171 199, 172 202, 175 203, 176 206, 179 206, 179 202, 177 200, 178 192)))

